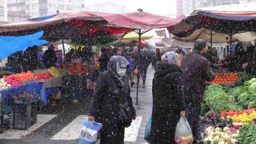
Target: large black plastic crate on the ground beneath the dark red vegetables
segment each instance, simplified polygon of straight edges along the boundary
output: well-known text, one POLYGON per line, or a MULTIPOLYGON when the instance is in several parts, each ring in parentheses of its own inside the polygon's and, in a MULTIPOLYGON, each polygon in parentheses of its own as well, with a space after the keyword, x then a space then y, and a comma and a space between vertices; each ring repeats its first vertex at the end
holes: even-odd
POLYGON ((10 129, 26 130, 31 127, 31 104, 12 104, 10 129))

